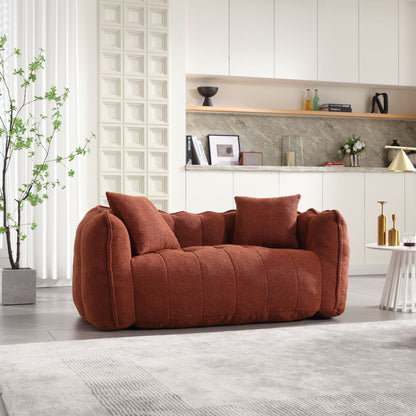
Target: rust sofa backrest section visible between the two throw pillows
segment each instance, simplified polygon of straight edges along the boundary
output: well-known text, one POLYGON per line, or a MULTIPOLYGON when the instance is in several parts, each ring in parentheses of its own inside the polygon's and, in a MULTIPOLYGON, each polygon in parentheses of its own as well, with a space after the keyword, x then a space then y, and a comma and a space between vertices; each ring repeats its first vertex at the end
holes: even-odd
POLYGON ((235 210, 223 213, 208 211, 201 214, 185 211, 174 214, 159 212, 175 233, 182 248, 233 242, 235 210))

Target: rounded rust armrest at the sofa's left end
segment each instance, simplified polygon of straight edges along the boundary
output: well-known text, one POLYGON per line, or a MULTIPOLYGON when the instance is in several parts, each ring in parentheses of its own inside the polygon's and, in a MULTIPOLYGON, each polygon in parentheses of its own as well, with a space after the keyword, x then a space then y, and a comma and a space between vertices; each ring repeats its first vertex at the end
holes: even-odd
POLYGON ((72 292, 79 314, 99 329, 135 322, 130 260, 123 222, 104 207, 88 211, 75 237, 72 292))

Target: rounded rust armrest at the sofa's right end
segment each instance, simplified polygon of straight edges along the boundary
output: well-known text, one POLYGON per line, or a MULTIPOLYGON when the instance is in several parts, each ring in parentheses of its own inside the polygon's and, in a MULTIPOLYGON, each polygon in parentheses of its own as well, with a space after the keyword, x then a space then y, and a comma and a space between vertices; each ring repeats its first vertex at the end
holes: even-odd
POLYGON ((336 211, 308 210, 298 215, 298 241, 313 251, 322 271, 322 297, 319 316, 329 318, 345 309, 348 287, 350 246, 347 224, 336 211))

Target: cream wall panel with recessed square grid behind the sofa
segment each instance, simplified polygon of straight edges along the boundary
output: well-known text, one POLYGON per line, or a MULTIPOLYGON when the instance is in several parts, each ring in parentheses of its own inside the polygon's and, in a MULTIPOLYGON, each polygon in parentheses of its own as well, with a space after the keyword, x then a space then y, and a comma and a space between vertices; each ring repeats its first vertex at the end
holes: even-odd
POLYGON ((98 1, 99 195, 168 209, 168 0, 98 1))

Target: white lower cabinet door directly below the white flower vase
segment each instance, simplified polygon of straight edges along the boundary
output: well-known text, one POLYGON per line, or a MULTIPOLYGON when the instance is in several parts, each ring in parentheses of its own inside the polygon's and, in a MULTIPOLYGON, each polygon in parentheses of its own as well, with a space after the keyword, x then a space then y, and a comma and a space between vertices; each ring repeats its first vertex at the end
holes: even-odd
POLYGON ((350 239, 350 264, 364 264, 364 173, 323 175, 323 209, 337 209, 344 217, 350 239))

